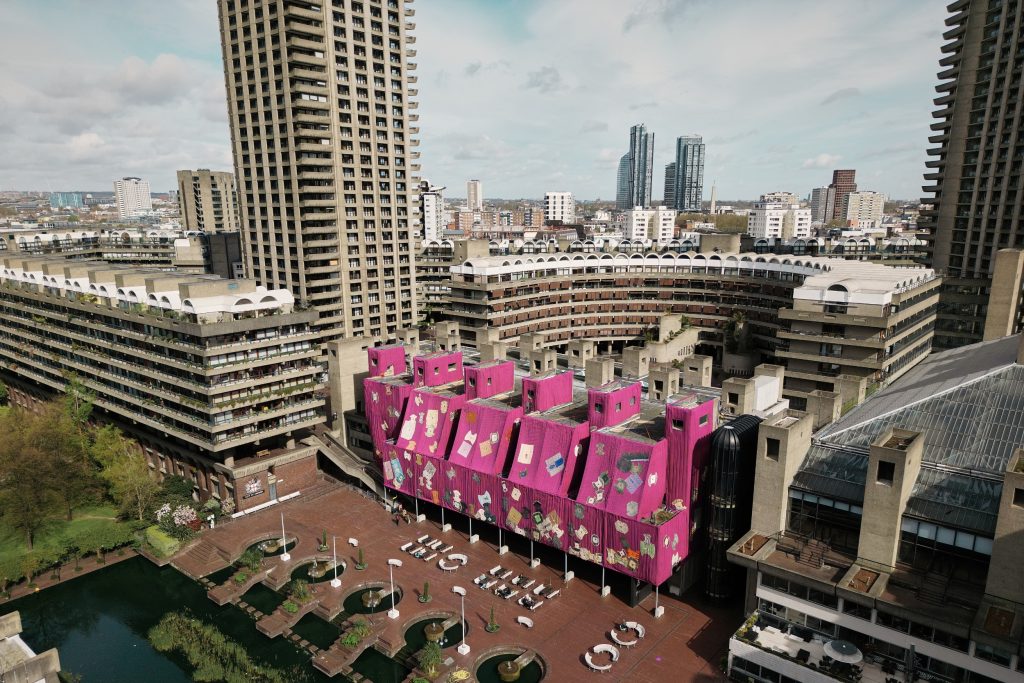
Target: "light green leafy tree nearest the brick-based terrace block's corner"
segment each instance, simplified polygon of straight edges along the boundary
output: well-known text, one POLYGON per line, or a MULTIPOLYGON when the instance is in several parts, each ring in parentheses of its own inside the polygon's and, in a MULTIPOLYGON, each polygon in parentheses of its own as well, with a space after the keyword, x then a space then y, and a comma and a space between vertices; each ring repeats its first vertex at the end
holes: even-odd
POLYGON ((121 511, 139 521, 145 519, 160 495, 160 484, 150 475, 138 444, 108 425, 94 432, 90 451, 121 511))

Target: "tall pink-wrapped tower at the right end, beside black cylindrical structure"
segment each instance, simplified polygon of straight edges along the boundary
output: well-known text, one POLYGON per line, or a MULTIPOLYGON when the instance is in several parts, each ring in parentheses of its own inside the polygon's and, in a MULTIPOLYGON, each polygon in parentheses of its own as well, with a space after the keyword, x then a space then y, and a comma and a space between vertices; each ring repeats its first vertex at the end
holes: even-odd
POLYGON ((665 431, 669 441, 669 505, 693 508, 708 466, 711 435, 718 426, 717 400, 696 394, 674 398, 666 405, 665 431))

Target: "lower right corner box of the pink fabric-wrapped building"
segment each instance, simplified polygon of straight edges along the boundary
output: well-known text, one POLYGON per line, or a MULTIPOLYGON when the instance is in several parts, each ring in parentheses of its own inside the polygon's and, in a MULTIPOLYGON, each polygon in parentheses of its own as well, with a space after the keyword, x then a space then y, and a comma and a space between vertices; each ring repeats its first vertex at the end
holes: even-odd
POLYGON ((652 584, 669 579, 689 551, 689 511, 668 514, 669 519, 653 523, 606 513, 604 565, 652 584))

